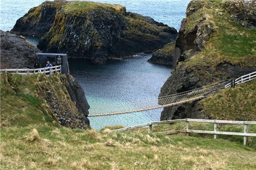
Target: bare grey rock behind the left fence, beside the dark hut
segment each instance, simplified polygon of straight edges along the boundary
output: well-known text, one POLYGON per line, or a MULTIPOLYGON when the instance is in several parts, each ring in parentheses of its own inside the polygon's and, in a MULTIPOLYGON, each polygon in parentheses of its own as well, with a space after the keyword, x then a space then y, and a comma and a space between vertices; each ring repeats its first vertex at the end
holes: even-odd
POLYGON ((26 41, 23 36, 17 36, 0 30, 1 34, 1 64, 0 68, 33 68, 38 61, 37 47, 26 41))

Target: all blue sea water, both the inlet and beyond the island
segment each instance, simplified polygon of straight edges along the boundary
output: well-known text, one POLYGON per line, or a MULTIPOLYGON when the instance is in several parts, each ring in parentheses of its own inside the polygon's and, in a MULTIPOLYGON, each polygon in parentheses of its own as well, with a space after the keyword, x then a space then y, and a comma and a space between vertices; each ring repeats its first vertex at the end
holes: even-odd
MULTIPOLYGON (((44 1, 1 0, 0 29, 11 30, 18 18, 42 2, 44 1)), ((126 11, 150 16, 156 21, 179 30, 189 0, 98 0, 94 2, 121 4, 126 7, 126 11)), ((26 38, 33 44, 39 40, 35 37, 26 38)), ((93 65, 84 60, 70 59, 70 72, 81 84, 91 106, 152 99, 157 98, 172 68, 148 63, 147 60, 151 56, 151 54, 138 54, 132 58, 111 61, 105 65, 93 65)), ((90 117, 91 127, 100 129, 110 125, 133 126, 156 121, 160 119, 161 110, 90 117)))

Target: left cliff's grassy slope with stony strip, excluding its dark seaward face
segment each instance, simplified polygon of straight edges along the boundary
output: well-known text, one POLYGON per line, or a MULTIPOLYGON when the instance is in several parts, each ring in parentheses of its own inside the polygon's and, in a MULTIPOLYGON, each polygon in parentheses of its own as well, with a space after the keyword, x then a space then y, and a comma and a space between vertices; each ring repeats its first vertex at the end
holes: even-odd
POLYGON ((87 129, 65 75, 1 74, 1 127, 46 125, 87 129))

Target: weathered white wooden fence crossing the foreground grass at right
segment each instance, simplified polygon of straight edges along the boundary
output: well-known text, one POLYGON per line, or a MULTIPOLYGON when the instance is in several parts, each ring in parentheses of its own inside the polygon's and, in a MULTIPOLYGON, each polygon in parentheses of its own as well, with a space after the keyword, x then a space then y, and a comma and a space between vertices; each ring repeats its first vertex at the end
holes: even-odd
POLYGON ((148 133, 152 133, 153 132, 153 125, 170 124, 170 123, 178 123, 178 122, 186 122, 186 129, 176 130, 176 131, 167 131, 167 132, 156 132, 156 133, 161 133, 161 134, 204 133, 204 134, 214 134, 214 138, 217 138, 218 135, 237 135, 237 136, 244 136, 244 145, 246 145, 246 143, 248 141, 248 136, 256 137, 256 133, 248 133, 248 125, 256 125, 256 122, 252 122, 252 121, 233 121, 233 120, 191 119, 191 118, 151 122, 151 123, 126 127, 126 128, 116 129, 116 130, 113 130, 112 132, 131 130, 131 129, 142 128, 142 127, 147 126, 148 127, 148 133), (193 130, 193 129, 190 129, 190 127, 189 127, 190 122, 214 123, 214 130, 213 131, 193 130), (219 124, 240 124, 240 125, 244 125, 244 132, 241 133, 241 132, 223 132, 223 131, 219 131, 219 124))

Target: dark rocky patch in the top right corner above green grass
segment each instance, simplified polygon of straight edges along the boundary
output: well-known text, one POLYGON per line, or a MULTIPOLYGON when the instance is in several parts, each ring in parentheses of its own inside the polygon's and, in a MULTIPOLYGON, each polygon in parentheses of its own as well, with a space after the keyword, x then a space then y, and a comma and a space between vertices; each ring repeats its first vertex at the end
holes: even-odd
POLYGON ((225 4, 226 10, 230 13, 232 20, 241 26, 254 30, 256 28, 256 1, 236 0, 228 1, 225 4))

